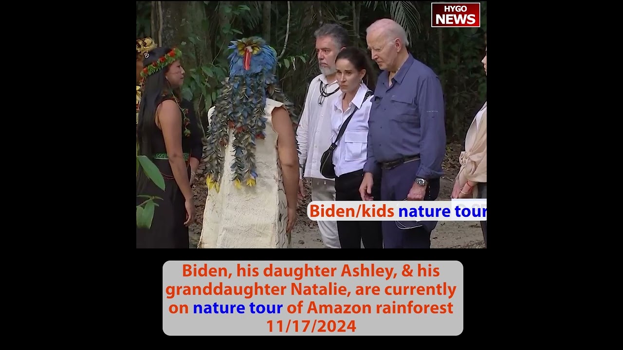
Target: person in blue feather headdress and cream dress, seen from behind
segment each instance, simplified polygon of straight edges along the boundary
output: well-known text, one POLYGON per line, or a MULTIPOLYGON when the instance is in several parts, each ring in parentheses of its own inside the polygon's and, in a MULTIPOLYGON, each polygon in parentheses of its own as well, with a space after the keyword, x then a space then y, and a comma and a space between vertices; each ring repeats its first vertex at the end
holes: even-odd
POLYGON ((229 78, 208 111, 199 247, 290 248, 299 175, 293 109, 277 88, 275 50, 259 37, 232 44, 229 78))

